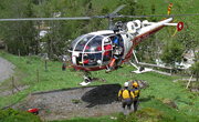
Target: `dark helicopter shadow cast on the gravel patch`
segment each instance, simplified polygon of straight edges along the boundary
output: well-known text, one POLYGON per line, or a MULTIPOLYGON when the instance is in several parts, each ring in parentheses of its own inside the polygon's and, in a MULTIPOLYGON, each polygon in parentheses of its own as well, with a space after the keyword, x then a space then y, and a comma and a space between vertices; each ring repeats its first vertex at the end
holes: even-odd
POLYGON ((93 108, 97 104, 109 104, 117 101, 121 84, 103 84, 87 91, 82 96, 82 101, 88 102, 86 108, 93 108))

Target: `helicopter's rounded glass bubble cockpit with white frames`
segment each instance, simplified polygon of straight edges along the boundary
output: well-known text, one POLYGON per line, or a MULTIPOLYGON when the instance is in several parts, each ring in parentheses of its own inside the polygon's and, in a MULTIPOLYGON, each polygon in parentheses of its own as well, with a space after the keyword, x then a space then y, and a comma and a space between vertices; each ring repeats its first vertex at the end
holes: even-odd
POLYGON ((116 37, 97 34, 83 34, 76 38, 69 49, 72 53, 72 63, 83 67, 108 64, 114 55, 114 38, 116 37))

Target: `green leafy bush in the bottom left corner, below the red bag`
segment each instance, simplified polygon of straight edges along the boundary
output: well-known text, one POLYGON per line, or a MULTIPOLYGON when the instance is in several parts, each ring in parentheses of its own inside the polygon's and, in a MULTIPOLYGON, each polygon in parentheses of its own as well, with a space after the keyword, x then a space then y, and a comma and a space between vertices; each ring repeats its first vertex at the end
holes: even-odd
POLYGON ((19 110, 0 110, 0 121, 3 122, 42 122, 41 119, 30 112, 22 112, 19 110))

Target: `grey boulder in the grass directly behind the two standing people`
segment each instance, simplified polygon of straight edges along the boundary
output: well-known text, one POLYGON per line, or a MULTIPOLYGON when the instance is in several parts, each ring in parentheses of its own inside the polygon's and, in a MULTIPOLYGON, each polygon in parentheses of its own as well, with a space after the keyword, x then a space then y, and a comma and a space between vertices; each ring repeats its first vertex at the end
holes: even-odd
POLYGON ((142 89, 146 89, 149 87, 149 84, 147 83, 147 81, 144 81, 144 80, 130 80, 128 81, 128 88, 129 89, 133 89, 133 83, 134 82, 137 82, 138 83, 138 88, 142 90, 142 89))

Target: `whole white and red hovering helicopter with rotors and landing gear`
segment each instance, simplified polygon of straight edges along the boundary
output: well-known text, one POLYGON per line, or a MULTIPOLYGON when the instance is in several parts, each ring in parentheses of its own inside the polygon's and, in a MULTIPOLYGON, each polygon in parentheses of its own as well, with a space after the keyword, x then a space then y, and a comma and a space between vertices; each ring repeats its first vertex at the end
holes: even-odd
MULTIPOLYGON (((108 30, 98 30, 77 37, 70 45, 71 65, 76 70, 84 71, 84 81, 80 85, 87 85, 93 82, 90 73, 92 71, 105 70, 111 73, 121 68, 124 62, 129 61, 134 54, 134 48, 145 41, 165 27, 177 27, 177 31, 184 29, 184 22, 172 23, 175 16, 199 16, 195 14, 170 14, 171 3, 169 4, 167 18, 158 22, 140 21, 138 19, 123 23, 117 21, 114 24, 114 18, 146 18, 146 17, 166 17, 166 16, 119 16, 117 12, 125 4, 119 6, 112 13, 95 17, 73 17, 73 18, 20 18, 20 19, 0 19, 0 21, 27 21, 27 20, 90 20, 105 18, 109 20, 108 30)), ((138 71, 143 73, 150 71, 149 69, 138 68, 132 63, 138 71)))

